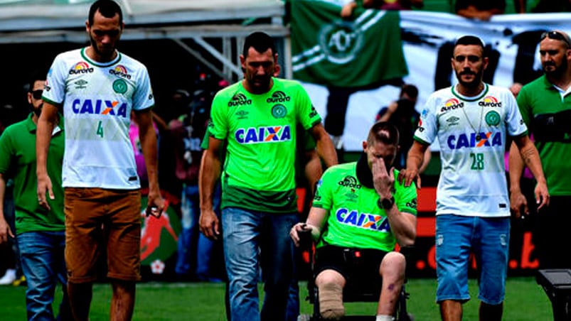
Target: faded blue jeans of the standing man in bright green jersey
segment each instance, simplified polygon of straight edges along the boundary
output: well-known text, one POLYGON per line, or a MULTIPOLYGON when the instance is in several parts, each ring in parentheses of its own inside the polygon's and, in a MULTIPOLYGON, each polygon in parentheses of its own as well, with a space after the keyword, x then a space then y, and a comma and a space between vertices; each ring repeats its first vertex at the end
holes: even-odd
POLYGON ((294 244, 289 229, 297 213, 276 214, 226 207, 223 244, 232 320, 284 321, 294 276, 294 244), (259 312, 257 282, 262 267, 265 298, 259 312))

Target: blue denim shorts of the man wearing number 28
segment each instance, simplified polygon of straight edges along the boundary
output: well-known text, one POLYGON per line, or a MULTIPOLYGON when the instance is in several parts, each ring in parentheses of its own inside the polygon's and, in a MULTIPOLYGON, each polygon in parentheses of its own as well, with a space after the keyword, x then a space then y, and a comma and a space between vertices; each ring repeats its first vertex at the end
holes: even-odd
POLYGON ((470 254, 478 270, 478 298, 489 305, 503 302, 509 255, 509 217, 436 217, 437 302, 467 301, 470 254))

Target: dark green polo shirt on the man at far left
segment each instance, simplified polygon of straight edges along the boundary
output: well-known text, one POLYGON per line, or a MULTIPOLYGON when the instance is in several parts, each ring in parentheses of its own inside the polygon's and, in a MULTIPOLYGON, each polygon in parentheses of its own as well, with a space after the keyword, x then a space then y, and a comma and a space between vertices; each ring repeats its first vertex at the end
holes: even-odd
POLYGON ((50 211, 38 205, 36 124, 32 114, 6 128, 0 136, 0 173, 5 178, 14 178, 16 234, 65 230, 61 184, 65 139, 61 117, 59 124, 53 131, 48 152, 48 175, 55 196, 55 200, 48 199, 50 211))

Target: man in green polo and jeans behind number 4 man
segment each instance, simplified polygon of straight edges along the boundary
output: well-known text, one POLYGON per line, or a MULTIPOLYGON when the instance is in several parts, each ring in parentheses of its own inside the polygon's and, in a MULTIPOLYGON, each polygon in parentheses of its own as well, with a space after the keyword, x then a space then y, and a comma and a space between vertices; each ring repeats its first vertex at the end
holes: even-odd
POLYGON ((16 231, 4 219, 0 206, 0 244, 14 237, 20 249, 22 271, 26 276, 26 311, 28 320, 55 320, 52 303, 55 285, 63 285, 63 299, 59 308, 61 320, 71 319, 68 303, 67 271, 63 258, 65 225, 61 171, 64 149, 63 119, 58 116, 50 141, 48 173, 53 178, 50 210, 36 200, 36 126, 42 108, 42 92, 46 73, 31 77, 28 102, 31 113, 26 120, 9 126, 0 136, 0 204, 4 202, 7 178, 14 178, 16 231))

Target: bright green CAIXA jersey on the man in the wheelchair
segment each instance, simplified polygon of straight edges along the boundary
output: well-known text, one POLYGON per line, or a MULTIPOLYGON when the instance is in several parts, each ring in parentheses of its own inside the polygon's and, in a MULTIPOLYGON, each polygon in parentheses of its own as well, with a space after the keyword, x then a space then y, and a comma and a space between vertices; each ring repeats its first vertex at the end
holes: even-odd
MULTIPOLYGON (((378 207, 379 195, 357 178, 357 163, 328 168, 314 197, 314 207, 328 212, 326 227, 317 247, 331 244, 357 249, 393 251, 396 239, 385 210, 378 207)), ((394 171, 395 178, 398 171, 394 171)), ((395 180, 395 205, 399 212, 417 214, 414 184, 405 187, 395 180)))

